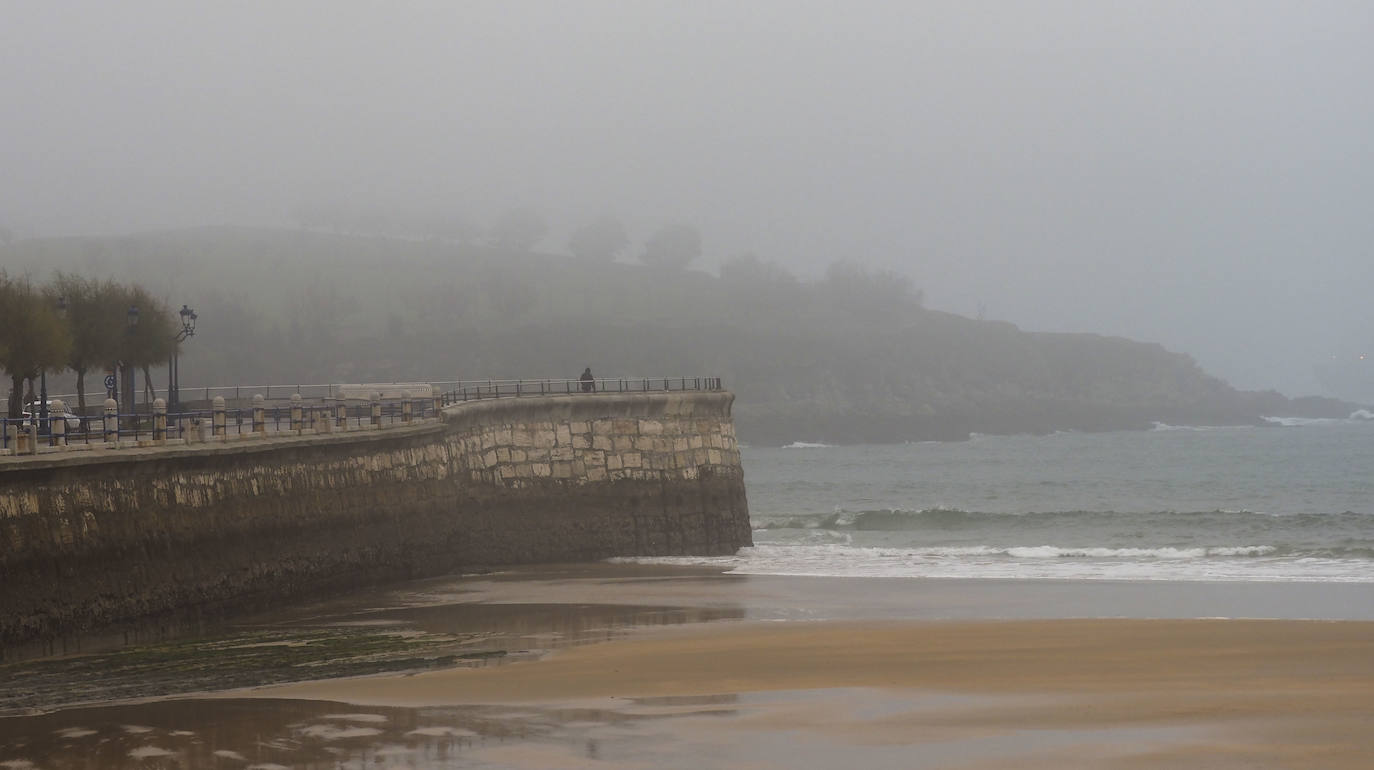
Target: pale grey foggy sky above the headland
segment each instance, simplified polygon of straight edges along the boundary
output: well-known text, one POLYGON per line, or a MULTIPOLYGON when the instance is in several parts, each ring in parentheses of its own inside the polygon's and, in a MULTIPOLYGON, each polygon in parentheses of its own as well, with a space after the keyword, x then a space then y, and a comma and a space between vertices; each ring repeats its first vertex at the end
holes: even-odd
MULTIPOLYGON (((1374 346, 1374 3, 0 0, 0 224, 698 224, 1316 390, 1374 346)), ((1374 351, 1369 351, 1374 353, 1374 351)))

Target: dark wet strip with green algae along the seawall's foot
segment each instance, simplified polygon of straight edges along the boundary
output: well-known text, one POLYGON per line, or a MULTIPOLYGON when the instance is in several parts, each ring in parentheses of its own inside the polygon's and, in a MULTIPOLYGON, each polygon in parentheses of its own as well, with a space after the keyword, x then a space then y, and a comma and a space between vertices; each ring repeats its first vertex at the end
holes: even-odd
POLYGON ((436 597, 416 601, 401 594, 381 609, 339 601, 278 613, 214 637, 3 664, 0 715, 302 679, 491 666, 616 639, 633 628, 743 616, 731 606, 464 604, 473 597, 447 598, 459 601, 431 604, 436 597))

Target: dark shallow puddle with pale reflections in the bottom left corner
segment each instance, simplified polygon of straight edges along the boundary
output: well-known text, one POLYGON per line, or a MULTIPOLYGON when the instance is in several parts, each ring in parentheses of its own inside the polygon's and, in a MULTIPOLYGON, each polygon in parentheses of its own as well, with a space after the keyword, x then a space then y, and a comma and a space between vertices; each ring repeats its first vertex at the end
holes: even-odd
POLYGON ((640 723, 730 716, 736 700, 646 698, 620 701, 621 708, 359 708, 304 700, 188 700, 80 708, 0 722, 0 767, 447 769, 470 767, 482 751, 511 745, 595 759, 609 748, 616 754, 640 751, 633 748, 640 742, 635 738, 640 723))

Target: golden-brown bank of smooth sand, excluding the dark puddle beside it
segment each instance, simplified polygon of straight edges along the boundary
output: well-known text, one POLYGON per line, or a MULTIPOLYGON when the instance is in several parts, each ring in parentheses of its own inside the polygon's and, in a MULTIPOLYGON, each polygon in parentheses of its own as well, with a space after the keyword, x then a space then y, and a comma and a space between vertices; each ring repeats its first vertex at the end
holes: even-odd
MULTIPOLYGON (((658 631, 533 663, 254 694, 408 707, 666 698, 699 716, 710 696, 758 693, 769 696, 743 715, 731 701, 727 733, 743 742, 752 733, 798 733, 800 745, 849 747, 859 766, 870 752, 879 764, 901 755, 896 747, 911 749, 908 766, 926 766, 922 745, 944 756, 955 741, 959 762, 930 766, 1367 767, 1374 624, 746 623, 658 631)), ((702 740, 692 720, 680 729, 679 741, 702 740)), ((775 759, 826 766, 812 756, 775 759)))

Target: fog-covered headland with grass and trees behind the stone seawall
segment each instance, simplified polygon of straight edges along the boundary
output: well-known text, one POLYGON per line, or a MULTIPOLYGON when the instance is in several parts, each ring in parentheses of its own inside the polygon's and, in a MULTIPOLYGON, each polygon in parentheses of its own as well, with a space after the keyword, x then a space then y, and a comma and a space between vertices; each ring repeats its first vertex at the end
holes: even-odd
POLYGON ((922 307, 900 276, 816 282, 743 257, 669 265, 308 230, 196 228, 21 241, 0 267, 147 286, 190 302, 183 386, 720 375, 742 437, 893 441, 1245 424, 1349 404, 1238 392, 1160 345, 1021 331, 922 307))

